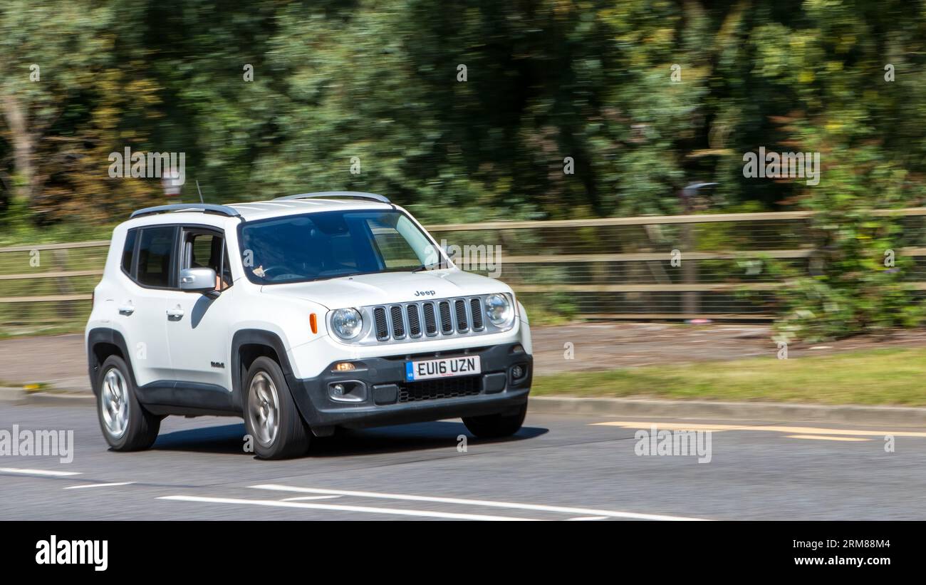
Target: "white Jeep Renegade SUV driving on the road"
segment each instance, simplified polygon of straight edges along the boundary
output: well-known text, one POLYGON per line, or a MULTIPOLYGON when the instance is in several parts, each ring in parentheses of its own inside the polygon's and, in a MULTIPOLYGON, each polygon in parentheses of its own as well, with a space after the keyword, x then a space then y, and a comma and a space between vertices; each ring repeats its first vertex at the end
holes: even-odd
POLYGON ((462 417, 505 436, 533 369, 511 288, 456 268, 370 193, 134 212, 113 231, 85 339, 117 451, 151 446, 167 415, 244 417, 263 458, 336 427, 462 417))

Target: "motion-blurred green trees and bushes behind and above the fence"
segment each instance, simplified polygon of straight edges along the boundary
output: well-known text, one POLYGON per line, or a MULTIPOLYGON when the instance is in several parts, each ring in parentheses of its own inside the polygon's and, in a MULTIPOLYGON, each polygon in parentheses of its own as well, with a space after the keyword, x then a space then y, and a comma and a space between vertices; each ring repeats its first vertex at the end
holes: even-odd
POLYGON ((782 305, 880 327, 910 297, 867 210, 922 202, 924 44, 900 0, 6 0, 0 241, 163 203, 107 176, 125 147, 184 153, 181 200, 362 190, 428 223, 805 208, 826 268, 782 305), (746 179, 759 146, 820 184, 746 179))

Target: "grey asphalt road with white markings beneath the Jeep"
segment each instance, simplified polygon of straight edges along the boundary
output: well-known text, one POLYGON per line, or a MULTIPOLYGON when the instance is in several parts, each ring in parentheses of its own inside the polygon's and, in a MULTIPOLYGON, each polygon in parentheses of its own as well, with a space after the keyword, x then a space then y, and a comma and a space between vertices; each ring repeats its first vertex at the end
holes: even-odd
POLYGON ((0 432, 13 425, 72 429, 74 454, 0 455, 0 520, 926 519, 921 429, 529 414, 514 438, 469 437, 465 453, 449 420, 346 431, 268 462, 244 453, 237 418, 169 417, 131 454, 107 450, 88 406, 0 405, 0 432), (636 454, 651 422, 714 429, 710 462, 636 454))

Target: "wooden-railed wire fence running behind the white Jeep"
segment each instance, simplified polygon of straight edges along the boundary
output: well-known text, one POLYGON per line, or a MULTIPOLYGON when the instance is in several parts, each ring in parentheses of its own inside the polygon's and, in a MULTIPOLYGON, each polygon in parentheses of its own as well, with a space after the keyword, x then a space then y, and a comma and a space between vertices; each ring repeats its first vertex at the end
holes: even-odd
MULTIPOLYGON (((926 208, 881 210, 902 223, 905 279, 926 290, 926 208)), ((494 221, 428 230, 460 268, 505 280, 533 315, 593 319, 765 320, 782 286, 773 260, 807 272, 812 212, 494 221), (744 292, 749 292, 745 295, 744 292)), ((0 248, 0 331, 78 330, 109 242, 0 248)))

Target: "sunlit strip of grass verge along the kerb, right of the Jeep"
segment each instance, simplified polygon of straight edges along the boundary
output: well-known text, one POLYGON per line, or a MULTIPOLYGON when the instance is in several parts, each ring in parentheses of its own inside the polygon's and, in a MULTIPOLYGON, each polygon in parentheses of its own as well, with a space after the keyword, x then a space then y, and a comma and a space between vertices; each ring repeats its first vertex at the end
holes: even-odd
POLYGON ((926 348, 537 376, 532 394, 926 406, 926 348))

